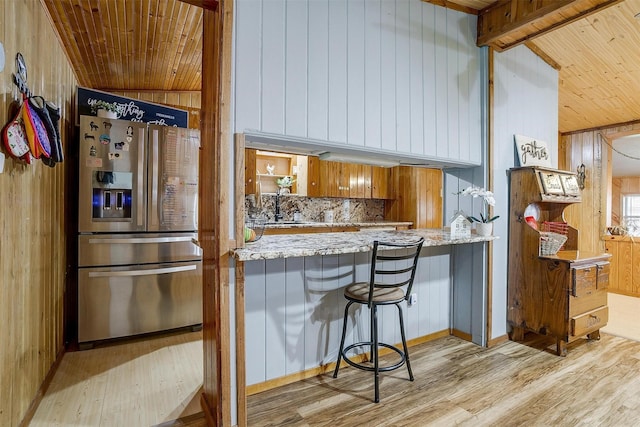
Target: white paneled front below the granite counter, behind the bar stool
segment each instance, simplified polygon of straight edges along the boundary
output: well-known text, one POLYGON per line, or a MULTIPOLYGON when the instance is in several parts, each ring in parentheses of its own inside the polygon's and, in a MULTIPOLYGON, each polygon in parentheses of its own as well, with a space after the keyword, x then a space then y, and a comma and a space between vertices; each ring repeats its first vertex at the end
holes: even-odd
MULTIPOLYGON (((403 308, 407 339, 449 328, 448 247, 423 248, 414 292, 403 308), (406 307, 406 306, 405 306, 406 307)), ((366 281, 370 253, 287 258, 245 263, 247 385, 336 360, 346 300, 344 287, 366 281)), ((352 312, 353 312, 352 308, 352 312)), ((366 310, 350 322, 347 342, 368 336, 366 310)), ((401 341, 395 307, 382 307, 382 341, 401 341)))

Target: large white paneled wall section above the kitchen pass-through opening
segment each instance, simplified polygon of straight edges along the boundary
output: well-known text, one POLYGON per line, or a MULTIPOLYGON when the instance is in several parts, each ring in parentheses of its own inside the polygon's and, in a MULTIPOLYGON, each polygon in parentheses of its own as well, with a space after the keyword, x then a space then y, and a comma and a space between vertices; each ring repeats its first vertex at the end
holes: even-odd
POLYGON ((476 17, 420 0, 237 0, 234 131, 480 162, 476 17))

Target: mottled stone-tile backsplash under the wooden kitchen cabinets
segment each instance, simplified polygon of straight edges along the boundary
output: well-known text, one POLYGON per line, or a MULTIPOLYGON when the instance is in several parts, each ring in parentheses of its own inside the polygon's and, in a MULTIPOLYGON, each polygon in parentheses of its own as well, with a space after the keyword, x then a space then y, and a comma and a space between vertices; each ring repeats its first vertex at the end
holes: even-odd
MULTIPOLYGON (((245 199, 245 211, 252 212, 252 200, 245 199)), ((334 222, 368 222, 384 219, 384 200, 380 199, 340 199, 302 197, 292 194, 280 196, 280 213, 283 221, 293 221, 293 214, 300 212, 301 221, 322 222, 324 212, 333 211, 334 222)), ((267 221, 275 218, 276 196, 262 195, 262 210, 267 221)))

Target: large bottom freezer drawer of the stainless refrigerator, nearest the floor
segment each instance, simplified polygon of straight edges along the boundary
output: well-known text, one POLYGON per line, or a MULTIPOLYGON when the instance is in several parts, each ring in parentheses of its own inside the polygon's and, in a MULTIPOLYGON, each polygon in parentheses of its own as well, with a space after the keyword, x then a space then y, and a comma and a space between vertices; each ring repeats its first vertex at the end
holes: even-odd
POLYGON ((78 341, 202 323, 202 263, 78 270, 78 341))

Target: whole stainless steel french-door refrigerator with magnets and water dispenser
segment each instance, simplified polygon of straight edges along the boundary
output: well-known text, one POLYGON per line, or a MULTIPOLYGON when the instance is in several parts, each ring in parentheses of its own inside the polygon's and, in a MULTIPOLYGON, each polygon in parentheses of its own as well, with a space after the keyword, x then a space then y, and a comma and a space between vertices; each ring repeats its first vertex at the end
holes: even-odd
POLYGON ((199 131, 95 116, 79 131, 78 342, 201 325, 199 131))

